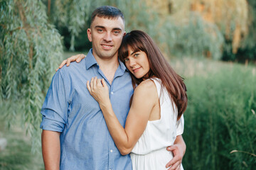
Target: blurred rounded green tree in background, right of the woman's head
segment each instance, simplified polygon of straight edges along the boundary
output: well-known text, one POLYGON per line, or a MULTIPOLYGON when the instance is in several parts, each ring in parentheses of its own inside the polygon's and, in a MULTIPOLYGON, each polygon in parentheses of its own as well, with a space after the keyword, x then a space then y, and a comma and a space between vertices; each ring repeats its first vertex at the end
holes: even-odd
POLYGON ((195 12, 190 13, 188 23, 176 24, 175 21, 175 18, 167 18, 160 29, 159 41, 167 43, 169 54, 220 59, 223 35, 215 24, 203 21, 195 12))

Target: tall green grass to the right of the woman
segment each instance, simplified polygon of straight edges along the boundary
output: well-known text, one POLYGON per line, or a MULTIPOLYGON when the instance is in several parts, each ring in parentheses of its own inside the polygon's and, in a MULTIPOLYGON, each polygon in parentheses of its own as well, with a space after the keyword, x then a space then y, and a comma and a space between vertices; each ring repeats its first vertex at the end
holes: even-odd
POLYGON ((255 68, 230 65, 186 81, 185 169, 255 169, 255 68), (233 150, 243 152, 230 153, 233 150))

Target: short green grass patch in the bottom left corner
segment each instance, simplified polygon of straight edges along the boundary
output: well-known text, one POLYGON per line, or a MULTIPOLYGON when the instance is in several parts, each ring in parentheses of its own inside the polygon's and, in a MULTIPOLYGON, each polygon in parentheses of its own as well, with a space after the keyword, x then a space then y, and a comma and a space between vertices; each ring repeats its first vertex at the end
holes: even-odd
POLYGON ((0 151, 0 170, 44 169, 41 152, 31 152, 31 138, 21 126, 14 125, 8 130, 4 124, 4 118, 0 117, 0 137, 7 140, 6 149, 0 151))

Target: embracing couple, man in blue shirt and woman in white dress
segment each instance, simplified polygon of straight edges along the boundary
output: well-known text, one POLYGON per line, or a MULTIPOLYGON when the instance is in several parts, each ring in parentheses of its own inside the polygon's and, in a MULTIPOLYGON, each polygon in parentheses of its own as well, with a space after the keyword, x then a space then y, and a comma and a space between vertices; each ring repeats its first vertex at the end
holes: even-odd
POLYGON ((46 170, 183 169, 183 79, 149 35, 125 33, 118 8, 97 8, 87 36, 92 49, 56 72, 43 103, 46 170))

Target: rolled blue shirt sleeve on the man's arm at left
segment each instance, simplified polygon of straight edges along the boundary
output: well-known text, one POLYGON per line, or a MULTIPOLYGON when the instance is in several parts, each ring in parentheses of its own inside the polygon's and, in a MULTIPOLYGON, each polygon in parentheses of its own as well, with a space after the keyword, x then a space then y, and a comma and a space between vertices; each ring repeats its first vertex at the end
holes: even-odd
POLYGON ((59 71, 53 76, 41 109, 41 129, 63 132, 68 118, 68 102, 65 94, 65 84, 59 71))

